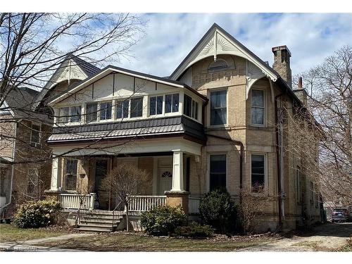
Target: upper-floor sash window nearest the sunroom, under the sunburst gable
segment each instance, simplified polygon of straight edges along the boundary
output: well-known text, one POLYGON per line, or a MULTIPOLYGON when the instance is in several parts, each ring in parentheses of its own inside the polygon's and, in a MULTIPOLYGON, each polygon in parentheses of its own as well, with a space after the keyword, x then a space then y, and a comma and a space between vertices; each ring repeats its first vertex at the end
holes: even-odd
POLYGON ((210 92, 210 125, 227 123, 227 90, 210 92))

